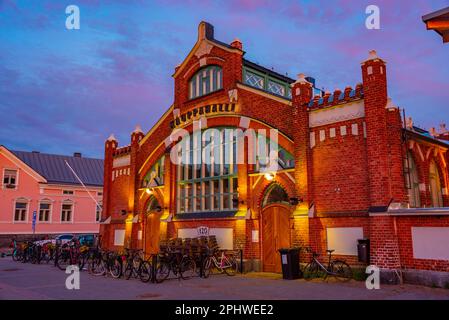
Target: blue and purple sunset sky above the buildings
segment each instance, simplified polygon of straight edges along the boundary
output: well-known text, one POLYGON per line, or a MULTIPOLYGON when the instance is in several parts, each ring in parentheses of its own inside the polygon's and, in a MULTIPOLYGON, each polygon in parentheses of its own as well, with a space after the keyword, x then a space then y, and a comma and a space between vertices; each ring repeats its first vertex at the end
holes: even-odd
POLYGON ((370 49, 387 61, 389 96, 426 129, 449 125, 449 45, 421 17, 435 1, 12 1, 0 0, 0 145, 103 157, 114 133, 129 144, 171 105, 171 75, 201 20, 238 37, 245 57, 303 72, 326 90, 361 82, 370 49), (126 4, 125 4, 126 3, 126 4), (81 29, 65 28, 67 5, 81 29), (380 7, 381 29, 365 28, 380 7))

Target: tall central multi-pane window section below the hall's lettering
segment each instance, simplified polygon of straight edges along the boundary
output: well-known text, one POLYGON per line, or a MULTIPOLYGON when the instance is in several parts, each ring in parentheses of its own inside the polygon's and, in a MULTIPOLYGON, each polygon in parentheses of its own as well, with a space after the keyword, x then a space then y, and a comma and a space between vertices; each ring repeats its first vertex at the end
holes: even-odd
POLYGON ((237 210, 237 140, 232 132, 215 128, 180 142, 185 143, 185 160, 177 168, 177 213, 237 210), (203 161, 207 144, 214 152, 210 161, 203 161))

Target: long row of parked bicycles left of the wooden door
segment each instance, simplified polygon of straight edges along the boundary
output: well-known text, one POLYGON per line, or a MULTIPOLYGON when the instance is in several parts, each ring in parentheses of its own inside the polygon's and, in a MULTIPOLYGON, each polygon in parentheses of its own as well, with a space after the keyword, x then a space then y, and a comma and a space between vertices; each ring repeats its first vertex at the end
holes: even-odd
POLYGON ((96 276, 156 283, 169 278, 207 278, 216 272, 233 276, 238 270, 236 252, 220 250, 214 236, 161 242, 159 252, 152 255, 139 249, 116 252, 88 247, 76 237, 63 244, 13 240, 12 259, 23 263, 53 262, 61 270, 77 265, 96 276))

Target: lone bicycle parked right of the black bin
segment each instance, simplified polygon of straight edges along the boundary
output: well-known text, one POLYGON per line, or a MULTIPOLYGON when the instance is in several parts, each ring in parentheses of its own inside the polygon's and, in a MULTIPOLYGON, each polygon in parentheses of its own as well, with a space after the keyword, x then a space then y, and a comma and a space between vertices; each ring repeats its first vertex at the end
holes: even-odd
POLYGON ((306 250, 307 252, 312 252, 311 261, 304 268, 304 279, 311 280, 313 278, 324 278, 328 276, 334 276, 340 281, 349 281, 352 279, 352 269, 343 260, 332 260, 332 252, 335 250, 326 250, 328 253, 327 265, 324 265, 318 260, 320 256, 318 253, 314 252, 310 248, 306 250))

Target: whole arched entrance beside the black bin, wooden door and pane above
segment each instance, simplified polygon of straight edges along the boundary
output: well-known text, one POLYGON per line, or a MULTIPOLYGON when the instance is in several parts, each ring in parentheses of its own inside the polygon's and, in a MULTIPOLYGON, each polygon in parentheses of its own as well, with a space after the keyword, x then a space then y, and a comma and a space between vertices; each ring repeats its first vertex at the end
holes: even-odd
POLYGON ((262 263, 265 272, 281 272, 278 250, 290 247, 290 208, 287 192, 273 184, 265 192, 262 210, 262 263))

